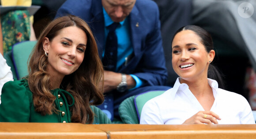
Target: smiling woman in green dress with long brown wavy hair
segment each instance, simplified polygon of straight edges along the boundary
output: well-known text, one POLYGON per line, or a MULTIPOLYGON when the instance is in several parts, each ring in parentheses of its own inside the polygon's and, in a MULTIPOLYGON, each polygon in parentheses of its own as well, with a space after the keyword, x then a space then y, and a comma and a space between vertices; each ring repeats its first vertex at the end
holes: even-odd
POLYGON ((22 80, 2 89, 1 122, 91 124, 90 105, 104 101, 103 66, 94 36, 81 18, 56 18, 35 45, 22 80))

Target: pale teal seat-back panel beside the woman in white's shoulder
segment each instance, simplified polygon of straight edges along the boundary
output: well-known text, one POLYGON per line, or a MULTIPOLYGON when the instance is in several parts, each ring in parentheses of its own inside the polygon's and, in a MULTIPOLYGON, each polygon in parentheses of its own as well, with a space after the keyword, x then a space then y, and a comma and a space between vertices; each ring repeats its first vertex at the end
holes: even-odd
POLYGON ((154 97, 161 95, 164 92, 165 91, 147 91, 145 93, 136 95, 134 101, 135 101, 136 111, 139 119, 140 119, 142 108, 145 105, 145 103, 148 100, 153 99, 154 97))

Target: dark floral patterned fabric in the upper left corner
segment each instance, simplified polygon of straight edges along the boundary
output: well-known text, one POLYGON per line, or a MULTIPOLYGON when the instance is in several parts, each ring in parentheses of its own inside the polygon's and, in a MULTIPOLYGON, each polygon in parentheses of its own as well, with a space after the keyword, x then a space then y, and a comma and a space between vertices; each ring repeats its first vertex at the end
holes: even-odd
POLYGON ((30 16, 27 10, 10 11, 1 15, 4 53, 18 42, 30 40, 30 16))

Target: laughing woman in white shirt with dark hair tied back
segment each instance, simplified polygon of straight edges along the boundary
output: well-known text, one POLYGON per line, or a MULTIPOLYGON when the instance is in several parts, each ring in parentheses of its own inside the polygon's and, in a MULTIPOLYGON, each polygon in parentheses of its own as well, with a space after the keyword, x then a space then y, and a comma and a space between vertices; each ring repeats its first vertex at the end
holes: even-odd
POLYGON ((172 65, 178 78, 143 107, 140 124, 255 124, 247 100, 218 88, 221 75, 211 35, 199 26, 184 26, 172 41, 172 65), (218 82, 217 82, 217 81, 218 82))

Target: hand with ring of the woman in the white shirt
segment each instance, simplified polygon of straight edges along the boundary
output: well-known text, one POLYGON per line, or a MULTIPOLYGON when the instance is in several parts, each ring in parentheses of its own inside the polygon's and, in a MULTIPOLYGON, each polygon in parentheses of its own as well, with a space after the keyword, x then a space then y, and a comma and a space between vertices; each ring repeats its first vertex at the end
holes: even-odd
POLYGON ((183 124, 218 124, 217 119, 221 120, 221 118, 212 111, 199 111, 184 121, 183 124))

